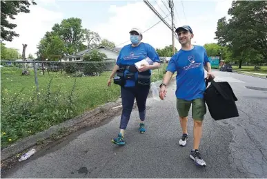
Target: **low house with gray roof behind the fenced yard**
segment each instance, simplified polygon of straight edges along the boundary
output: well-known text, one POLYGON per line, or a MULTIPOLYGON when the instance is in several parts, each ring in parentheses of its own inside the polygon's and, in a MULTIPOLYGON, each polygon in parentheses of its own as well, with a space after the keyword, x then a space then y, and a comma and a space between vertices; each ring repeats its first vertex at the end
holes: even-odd
MULTIPOLYGON (((106 60, 117 60, 117 57, 119 56, 119 52, 121 51, 121 48, 110 48, 106 46, 98 46, 95 48, 96 50, 99 51, 99 53, 104 53, 106 54, 107 58, 106 60)), ((93 49, 86 49, 83 50, 75 55, 69 55, 63 57, 64 61, 83 61, 83 55, 87 55, 90 53, 93 49)))

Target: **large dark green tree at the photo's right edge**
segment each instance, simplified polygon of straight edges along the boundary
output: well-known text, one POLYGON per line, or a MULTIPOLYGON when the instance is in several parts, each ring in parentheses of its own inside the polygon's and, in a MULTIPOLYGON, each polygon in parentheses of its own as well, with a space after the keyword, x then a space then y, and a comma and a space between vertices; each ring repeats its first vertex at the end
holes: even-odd
POLYGON ((239 68, 248 61, 246 51, 254 49, 267 61, 267 1, 233 1, 228 15, 218 20, 215 39, 228 46, 239 59, 239 68))

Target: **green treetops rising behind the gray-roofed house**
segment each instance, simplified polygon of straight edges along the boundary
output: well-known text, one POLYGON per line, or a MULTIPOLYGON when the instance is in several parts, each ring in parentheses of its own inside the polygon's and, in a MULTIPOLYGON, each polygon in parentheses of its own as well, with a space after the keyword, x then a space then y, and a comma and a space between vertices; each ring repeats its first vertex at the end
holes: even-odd
POLYGON ((114 42, 108 39, 101 40, 97 32, 83 28, 81 22, 81 19, 71 17, 56 23, 39 42, 38 59, 50 59, 55 55, 74 55, 86 48, 93 49, 99 45, 115 47, 114 42))

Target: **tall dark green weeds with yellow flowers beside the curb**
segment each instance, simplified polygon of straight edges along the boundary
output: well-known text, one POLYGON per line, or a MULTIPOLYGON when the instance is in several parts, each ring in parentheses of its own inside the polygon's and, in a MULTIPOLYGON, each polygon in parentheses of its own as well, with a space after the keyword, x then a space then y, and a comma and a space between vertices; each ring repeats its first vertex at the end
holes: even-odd
POLYGON ((46 91, 38 93, 32 88, 30 97, 4 89, 1 95, 1 144, 6 146, 19 138, 48 129, 77 115, 75 106, 75 83, 71 91, 61 94, 61 88, 51 91, 52 78, 46 91))

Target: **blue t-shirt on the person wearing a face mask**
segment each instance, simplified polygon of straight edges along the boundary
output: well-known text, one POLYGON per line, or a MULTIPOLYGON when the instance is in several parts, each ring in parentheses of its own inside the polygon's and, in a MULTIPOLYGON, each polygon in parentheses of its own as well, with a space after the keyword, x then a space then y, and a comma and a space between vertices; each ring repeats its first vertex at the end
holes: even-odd
MULTIPOLYGON (((152 59, 153 62, 160 62, 157 51, 149 44, 141 42, 139 46, 135 47, 132 46, 132 44, 128 44, 126 46, 123 46, 123 48, 121 48, 116 64, 118 66, 119 65, 135 66, 136 62, 139 62, 142 59, 145 59, 146 57, 152 59)), ((137 75, 138 73, 136 73, 135 75, 136 78, 137 75)), ((135 86, 135 81, 126 80, 125 86, 126 87, 135 86)))

